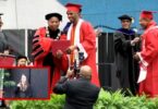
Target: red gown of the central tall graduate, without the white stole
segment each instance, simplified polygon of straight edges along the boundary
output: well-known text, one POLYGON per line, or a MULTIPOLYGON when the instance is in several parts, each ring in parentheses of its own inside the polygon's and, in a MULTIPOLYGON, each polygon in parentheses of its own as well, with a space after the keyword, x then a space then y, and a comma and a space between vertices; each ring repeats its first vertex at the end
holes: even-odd
MULTIPOLYGON (((75 31, 76 31, 76 27, 75 27, 75 31)), ((66 36, 66 39, 68 39, 68 36, 66 36)), ((99 80, 98 80, 97 65, 96 65, 96 34, 93 26, 88 22, 83 21, 83 23, 81 24, 80 45, 77 45, 77 47, 78 46, 80 47, 82 46, 82 48, 87 53, 87 58, 82 62, 82 65, 89 65, 92 68, 92 71, 93 71, 92 83, 97 86, 100 86, 99 80)))

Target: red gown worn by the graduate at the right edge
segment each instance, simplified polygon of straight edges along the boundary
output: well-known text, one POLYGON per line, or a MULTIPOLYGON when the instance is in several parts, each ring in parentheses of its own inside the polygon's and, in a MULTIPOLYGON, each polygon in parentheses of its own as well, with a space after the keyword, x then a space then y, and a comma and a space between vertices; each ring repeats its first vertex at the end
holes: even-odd
POLYGON ((139 94, 145 93, 149 97, 158 96, 158 26, 150 22, 142 35, 141 64, 146 68, 147 75, 139 83, 139 94))

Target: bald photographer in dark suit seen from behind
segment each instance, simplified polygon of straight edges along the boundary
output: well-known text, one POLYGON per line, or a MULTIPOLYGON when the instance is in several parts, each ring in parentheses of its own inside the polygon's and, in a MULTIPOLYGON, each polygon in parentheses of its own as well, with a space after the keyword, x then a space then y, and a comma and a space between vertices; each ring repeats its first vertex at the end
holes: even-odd
POLYGON ((73 71, 68 71, 54 86, 56 94, 65 94, 64 109, 93 109, 100 88, 90 83, 92 69, 84 65, 80 70, 80 78, 69 80, 73 75, 73 71))

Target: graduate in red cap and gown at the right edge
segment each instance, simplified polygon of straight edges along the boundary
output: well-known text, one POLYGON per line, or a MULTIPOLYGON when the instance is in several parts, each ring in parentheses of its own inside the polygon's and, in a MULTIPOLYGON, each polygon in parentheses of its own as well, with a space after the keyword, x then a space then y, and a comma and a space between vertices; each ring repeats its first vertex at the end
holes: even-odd
POLYGON ((142 51, 134 58, 139 60, 139 94, 158 96, 158 26, 153 20, 153 12, 143 11, 139 24, 145 31, 142 35, 142 51))

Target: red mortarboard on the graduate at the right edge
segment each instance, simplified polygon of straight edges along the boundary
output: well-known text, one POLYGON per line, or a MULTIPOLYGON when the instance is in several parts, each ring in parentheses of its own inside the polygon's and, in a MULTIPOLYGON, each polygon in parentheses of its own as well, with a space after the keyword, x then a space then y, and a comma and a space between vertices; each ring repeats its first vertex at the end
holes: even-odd
POLYGON ((149 20, 153 20, 153 19, 154 19, 153 13, 156 13, 156 12, 154 12, 154 11, 142 11, 142 12, 141 12, 141 17, 142 17, 142 19, 149 19, 149 20))

